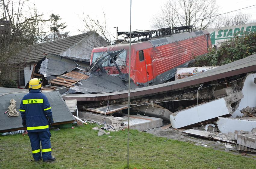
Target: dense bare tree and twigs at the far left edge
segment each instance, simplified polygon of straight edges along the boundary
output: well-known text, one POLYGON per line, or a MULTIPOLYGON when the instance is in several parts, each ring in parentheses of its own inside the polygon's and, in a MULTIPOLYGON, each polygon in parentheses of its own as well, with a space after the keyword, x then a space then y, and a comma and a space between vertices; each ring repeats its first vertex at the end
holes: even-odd
POLYGON ((30 8, 27 0, 0 1, 0 86, 12 76, 17 77, 24 69, 25 60, 18 57, 21 49, 37 44, 44 34, 42 14, 30 8), (29 9, 25 11, 25 8, 29 9), (20 70, 20 71, 19 71, 20 70))

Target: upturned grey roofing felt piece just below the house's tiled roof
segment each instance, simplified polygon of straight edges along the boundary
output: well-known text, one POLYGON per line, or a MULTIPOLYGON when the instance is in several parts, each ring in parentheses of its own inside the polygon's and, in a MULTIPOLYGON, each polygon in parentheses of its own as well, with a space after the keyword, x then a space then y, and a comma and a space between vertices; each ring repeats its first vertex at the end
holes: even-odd
POLYGON ((87 64, 82 62, 76 62, 72 59, 55 54, 48 54, 45 56, 45 59, 40 65, 39 73, 44 75, 44 77, 51 75, 62 75, 65 72, 71 72, 72 70, 76 69, 76 67, 86 69, 87 66, 87 64))

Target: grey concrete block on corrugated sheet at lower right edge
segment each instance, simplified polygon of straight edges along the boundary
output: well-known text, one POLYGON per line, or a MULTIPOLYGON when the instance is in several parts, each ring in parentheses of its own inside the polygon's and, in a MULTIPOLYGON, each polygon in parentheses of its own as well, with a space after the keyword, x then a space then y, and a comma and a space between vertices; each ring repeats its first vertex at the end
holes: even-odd
POLYGON ((256 149, 256 136, 254 134, 237 134, 237 144, 256 149))

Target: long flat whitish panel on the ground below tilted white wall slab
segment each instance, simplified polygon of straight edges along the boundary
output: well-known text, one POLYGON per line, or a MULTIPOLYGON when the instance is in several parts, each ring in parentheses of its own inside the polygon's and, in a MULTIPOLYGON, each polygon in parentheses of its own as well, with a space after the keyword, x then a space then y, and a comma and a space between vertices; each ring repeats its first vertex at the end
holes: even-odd
POLYGON ((200 131, 200 130, 194 130, 194 129, 189 129, 185 130, 182 133, 189 134, 192 136, 198 136, 198 137, 203 137, 203 138, 208 138, 211 140, 217 140, 225 143, 231 143, 231 144, 236 144, 236 142, 229 140, 226 136, 221 135, 221 134, 214 134, 210 133, 208 131, 200 131))

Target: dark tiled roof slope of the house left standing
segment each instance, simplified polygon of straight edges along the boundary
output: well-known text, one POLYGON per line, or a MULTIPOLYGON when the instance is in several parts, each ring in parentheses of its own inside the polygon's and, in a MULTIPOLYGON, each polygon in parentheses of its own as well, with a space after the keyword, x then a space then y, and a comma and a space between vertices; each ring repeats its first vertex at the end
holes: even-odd
POLYGON ((80 35, 70 36, 67 38, 47 43, 29 45, 28 47, 20 51, 20 54, 18 55, 17 59, 19 62, 29 63, 41 60, 44 57, 43 53, 61 54, 73 45, 80 43, 84 38, 89 36, 91 33, 94 32, 86 32, 80 35))

